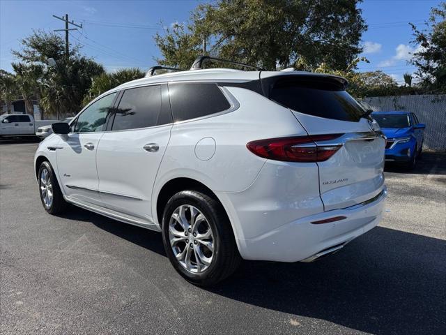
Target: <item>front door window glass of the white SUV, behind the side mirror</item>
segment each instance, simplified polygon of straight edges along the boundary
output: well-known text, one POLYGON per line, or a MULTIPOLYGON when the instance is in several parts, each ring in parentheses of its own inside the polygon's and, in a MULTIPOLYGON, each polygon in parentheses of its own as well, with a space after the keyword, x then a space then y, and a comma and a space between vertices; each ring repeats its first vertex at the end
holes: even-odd
POLYGON ((103 131, 107 114, 112 111, 116 92, 100 98, 77 117, 75 133, 89 133, 103 131))

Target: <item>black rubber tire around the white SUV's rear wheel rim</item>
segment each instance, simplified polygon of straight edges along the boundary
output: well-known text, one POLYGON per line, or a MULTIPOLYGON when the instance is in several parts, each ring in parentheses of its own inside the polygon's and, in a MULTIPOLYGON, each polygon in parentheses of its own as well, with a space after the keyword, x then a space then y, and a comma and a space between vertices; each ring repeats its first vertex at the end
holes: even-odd
MULTIPOLYGON (((191 235, 189 236, 192 241, 193 237, 191 235)), ((194 285, 215 285, 233 274, 240 264, 240 253, 238 253, 236 240, 226 211, 224 211, 220 202, 199 191, 180 191, 170 198, 164 208, 164 214, 162 216, 162 239, 164 249, 171 264, 183 278, 194 285), (210 265, 208 265, 208 268, 200 273, 192 273, 181 265, 180 261, 178 261, 174 255, 174 251, 170 244, 170 219, 172 214, 174 214, 174 211, 181 205, 191 205, 196 207, 196 209, 206 217, 206 221, 212 230, 213 258, 210 265)), ((185 248, 188 247, 189 246, 186 243, 185 248)), ((192 243, 190 243, 190 248, 192 247, 192 243)))

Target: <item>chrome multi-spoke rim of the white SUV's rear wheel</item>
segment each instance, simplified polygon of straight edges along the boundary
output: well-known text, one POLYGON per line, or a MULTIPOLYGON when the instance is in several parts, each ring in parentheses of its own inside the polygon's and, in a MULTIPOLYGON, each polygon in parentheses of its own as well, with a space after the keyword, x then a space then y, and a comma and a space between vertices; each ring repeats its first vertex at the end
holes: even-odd
POLYGON ((169 241, 176 260, 187 271, 199 274, 213 260, 214 237, 206 216, 190 204, 182 204, 169 221, 169 241))

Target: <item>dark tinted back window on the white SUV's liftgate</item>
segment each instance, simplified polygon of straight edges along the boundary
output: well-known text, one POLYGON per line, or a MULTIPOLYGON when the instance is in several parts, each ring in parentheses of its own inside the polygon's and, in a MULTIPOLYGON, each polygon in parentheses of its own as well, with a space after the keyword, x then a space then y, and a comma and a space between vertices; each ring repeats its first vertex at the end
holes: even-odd
POLYGON ((339 83, 330 80, 282 80, 270 89, 270 99, 314 117, 359 121, 365 110, 339 83))

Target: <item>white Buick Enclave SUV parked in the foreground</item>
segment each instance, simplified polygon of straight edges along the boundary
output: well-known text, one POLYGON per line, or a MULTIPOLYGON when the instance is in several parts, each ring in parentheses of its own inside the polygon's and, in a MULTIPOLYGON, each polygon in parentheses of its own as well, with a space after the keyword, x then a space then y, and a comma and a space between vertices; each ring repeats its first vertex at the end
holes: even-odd
POLYGON ((374 228, 387 195, 385 138, 346 84, 227 68, 123 84, 40 143, 43 206, 162 232, 197 285, 242 258, 315 260, 374 228))

